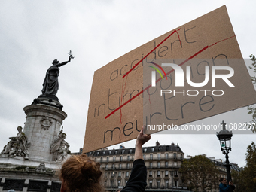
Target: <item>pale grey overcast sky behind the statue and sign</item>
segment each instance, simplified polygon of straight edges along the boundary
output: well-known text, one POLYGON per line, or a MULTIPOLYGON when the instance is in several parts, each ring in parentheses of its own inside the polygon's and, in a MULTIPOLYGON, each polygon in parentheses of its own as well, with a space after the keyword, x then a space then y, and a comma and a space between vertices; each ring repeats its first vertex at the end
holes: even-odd
MULTIPOLYGON (((84 144, 93 72, 130 50, 203 14, 227 5, 242 56, 255 54, 254 0, 244 1, 1 1, 0 6, 0 150, 17 135, 31 105, 41 94, 45 72, 53 59, 75 59, 62 66, 57 96, 68 117, 63 122, 66 141, 76 152, 84 144)), ((203 120, 203 123, 244 123, 242 108, 203 120)), ((179 144, 185 156, 206 154, 224 159, 218 139, 209 135, 154 134, 146 146, 179 144)), ((230 162, 245 166, 245 152, 254 134, 234 135, 230 162)), ((134 146, 134 141, 123 143, 134 146)), ((111 147, 113 148, 113 147, 111 147)), ((114 148, 118 148, 115 145, 114 148)))

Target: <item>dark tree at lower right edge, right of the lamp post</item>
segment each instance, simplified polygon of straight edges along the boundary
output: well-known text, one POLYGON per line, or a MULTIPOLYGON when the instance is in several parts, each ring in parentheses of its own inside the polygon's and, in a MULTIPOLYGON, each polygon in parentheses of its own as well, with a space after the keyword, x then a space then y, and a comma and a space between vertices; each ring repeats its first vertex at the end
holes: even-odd
POLYGON ((256 191, 256 145, 251 142, 246 153, 246 166, 241 172, 232 172, 236 192, 256 191))

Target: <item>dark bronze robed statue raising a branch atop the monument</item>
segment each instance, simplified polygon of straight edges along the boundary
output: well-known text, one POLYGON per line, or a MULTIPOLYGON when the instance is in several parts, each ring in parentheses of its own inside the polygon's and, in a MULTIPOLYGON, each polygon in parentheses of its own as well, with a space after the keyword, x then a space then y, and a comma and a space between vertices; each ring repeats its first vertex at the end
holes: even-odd
POLYGON ((72 52, 70 50, 68 61, 59 63, 57 59, 53 60, 53 66, 50 66, 50 68, 46 72, 43 89, 41 90, 41 96, 53 98, 56 96, 56 93, 59 90, 59 67, 66 65, 68 62, 71 61, 71 59, 74 59, 74 56, 72 56, 72 52))

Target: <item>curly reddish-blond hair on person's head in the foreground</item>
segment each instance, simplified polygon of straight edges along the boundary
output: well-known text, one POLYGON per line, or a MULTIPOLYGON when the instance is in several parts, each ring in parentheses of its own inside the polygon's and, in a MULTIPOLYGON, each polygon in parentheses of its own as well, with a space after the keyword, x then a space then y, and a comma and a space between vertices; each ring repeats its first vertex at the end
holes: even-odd
POLYGON ((63 163, 59 177, 66 184, 67 192, 101 192, 102 171, 99 163, 85 154, 74 155, 63 163))

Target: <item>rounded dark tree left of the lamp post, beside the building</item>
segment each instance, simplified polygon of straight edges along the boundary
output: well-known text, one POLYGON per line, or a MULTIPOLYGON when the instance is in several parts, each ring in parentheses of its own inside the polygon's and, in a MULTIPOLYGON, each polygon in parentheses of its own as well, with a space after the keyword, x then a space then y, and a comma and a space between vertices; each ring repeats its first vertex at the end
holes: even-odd
POLYGON ((206 192, 218 187, 218 169, 215 163, 203 155, 184 160, 180 172, 191 190, 206 192))

